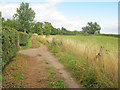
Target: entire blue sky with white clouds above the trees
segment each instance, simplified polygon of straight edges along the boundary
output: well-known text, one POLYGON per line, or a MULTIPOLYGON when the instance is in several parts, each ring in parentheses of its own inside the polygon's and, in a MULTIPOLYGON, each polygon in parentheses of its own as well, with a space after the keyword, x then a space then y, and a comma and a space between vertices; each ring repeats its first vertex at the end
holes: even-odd
POLYGON ((2 16, 12 18, 21 2, 30 3, 36 21, 55 28, 81 31, 88 22, 97 22, 101 33, 118 33, 118 0, 0 0, 2 16))

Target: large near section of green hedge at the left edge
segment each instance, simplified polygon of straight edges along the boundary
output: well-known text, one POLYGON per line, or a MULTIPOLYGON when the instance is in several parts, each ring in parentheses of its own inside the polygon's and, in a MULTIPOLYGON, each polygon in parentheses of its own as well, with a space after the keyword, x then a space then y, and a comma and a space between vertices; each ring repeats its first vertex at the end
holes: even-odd
POLYGON ((2 66, 3 68, 16 55, 18 32, 13 28, 2 28, 2 66))

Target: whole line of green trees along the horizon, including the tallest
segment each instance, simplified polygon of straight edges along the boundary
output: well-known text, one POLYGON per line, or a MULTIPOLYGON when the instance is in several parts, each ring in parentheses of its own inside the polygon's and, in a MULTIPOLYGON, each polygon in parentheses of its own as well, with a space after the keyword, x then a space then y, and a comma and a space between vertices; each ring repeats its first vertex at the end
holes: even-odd
POLYGON ((76 35, 76 34, 100 34, 101 27, 95 22, 88 22, 82 31, 70 31, 64 27, 55 28, 50 22, 36 22, 35 12, 29 7, 29 3, 21 3, 12 19, 5 20, 2 17, 2 27, 14 28, 20 32, 37 33, 38 35, 76 35))

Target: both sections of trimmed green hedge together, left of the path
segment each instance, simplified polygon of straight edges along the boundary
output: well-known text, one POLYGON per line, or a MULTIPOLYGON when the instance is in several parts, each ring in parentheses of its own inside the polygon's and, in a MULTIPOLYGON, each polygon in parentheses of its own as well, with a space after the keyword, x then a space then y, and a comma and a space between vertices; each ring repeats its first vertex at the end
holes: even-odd
POLYGON ((16 56, 19 45, 26 46, 24 47, 26 49, 31 46, 31 41, 27 33, 18 32, 10 27, 3 27, 2 33, 2 67, 4 68, 16 56))

